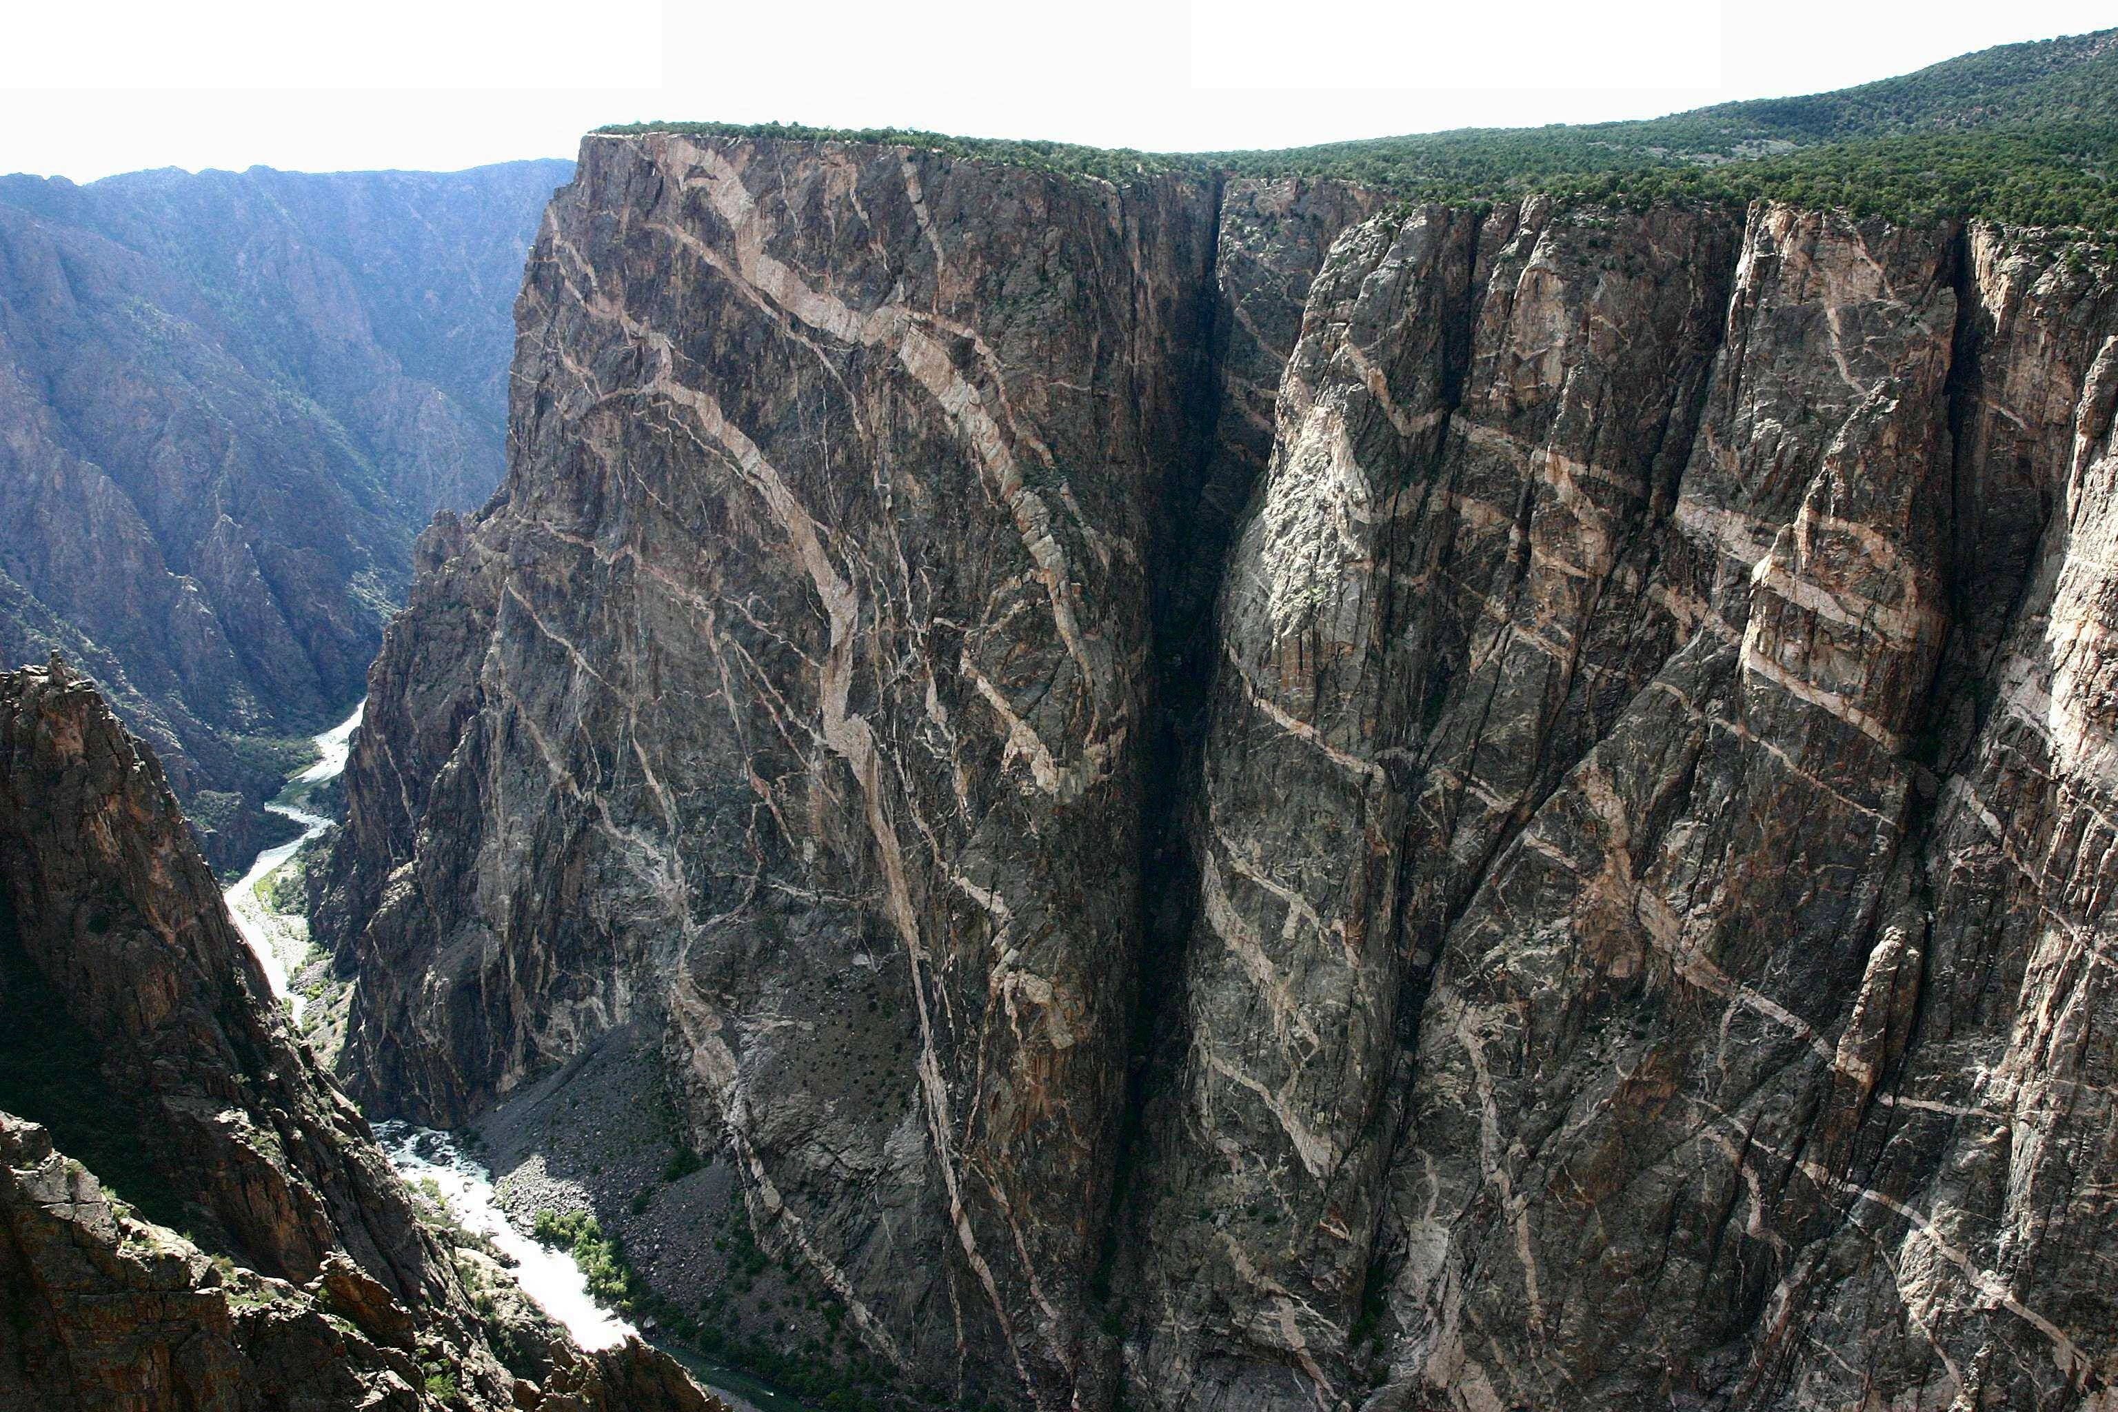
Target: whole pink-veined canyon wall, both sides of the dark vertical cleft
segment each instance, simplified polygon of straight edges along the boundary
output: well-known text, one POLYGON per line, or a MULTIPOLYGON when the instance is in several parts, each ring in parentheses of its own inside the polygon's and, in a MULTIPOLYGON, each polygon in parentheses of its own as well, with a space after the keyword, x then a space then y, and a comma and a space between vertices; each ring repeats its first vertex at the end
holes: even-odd
POLYGON ((2033 233, 591 138, 349 1082, 652 1035, 970 1401, 2101 1406, 2114 404, 2033 233))

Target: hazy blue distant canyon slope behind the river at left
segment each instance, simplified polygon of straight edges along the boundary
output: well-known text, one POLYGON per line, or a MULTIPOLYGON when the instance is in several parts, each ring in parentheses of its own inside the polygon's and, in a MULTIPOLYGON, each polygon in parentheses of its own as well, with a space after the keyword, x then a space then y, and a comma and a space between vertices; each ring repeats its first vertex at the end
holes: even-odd
POLYGON ((216 868, 360 699, 413 536, 498 483, 568 171, 0 178, 0 658, 89 671, 216 868))

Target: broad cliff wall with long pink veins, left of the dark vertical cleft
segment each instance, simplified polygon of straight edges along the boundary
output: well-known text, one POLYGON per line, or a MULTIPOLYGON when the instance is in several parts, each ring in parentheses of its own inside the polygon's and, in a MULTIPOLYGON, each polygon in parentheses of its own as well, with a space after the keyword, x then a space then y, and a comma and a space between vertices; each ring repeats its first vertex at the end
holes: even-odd
POLYGON ((546 218, 515 438, 563 470, 377 667, 349 1075, 462 1118, 652 1014, 881 1357, 1067 1387, 1214 193, 784 157, 591 140, 546 218))

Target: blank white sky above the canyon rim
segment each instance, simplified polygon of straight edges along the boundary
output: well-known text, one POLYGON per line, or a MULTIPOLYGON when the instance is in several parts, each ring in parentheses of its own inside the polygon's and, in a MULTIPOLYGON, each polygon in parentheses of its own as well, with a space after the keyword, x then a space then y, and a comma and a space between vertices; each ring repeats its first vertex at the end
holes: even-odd
POLYGON ((0 0, 0 171, 451 169, 638 119, 1211 150, 1654 116, 2118 0, 0 0))

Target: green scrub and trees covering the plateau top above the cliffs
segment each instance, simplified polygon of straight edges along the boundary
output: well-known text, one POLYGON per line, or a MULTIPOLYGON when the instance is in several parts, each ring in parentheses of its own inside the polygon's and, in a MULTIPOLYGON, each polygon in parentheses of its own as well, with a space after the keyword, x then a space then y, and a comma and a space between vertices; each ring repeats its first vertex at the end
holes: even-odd
POLYGON ((1893 220, 1991 218, 2118 229, 2118 47, 2006 44, 1917 74, 1639 123, 1461 129, 1273 152, 1156 155, 1063 142, 786 123, 633 123, 604 133, 877 142, 1061 178, 1339 178, 1406 201, 1552 195, 1644 207, 1775 199, 1893 220))

